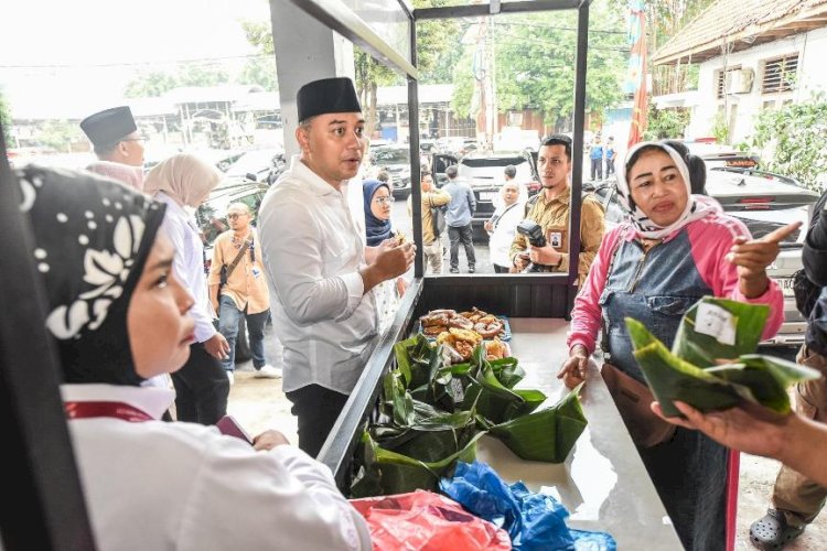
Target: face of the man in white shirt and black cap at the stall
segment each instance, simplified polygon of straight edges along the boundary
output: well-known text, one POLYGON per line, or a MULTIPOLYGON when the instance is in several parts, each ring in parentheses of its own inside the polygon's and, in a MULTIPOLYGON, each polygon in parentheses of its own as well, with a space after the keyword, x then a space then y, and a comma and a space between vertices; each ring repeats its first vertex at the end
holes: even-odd
POLYGON ((365 118, 361 112, 313 117, 296 130, 304 163, 325 182, 339 187, 354 177, 362 163, 365 118))

